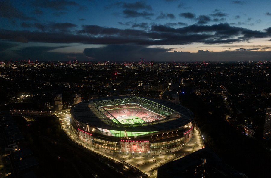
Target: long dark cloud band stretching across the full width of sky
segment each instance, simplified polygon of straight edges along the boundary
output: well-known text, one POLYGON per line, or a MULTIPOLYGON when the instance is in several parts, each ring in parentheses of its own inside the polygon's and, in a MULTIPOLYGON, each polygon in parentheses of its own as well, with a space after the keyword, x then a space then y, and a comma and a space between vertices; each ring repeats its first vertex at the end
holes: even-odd
MULTIPOLYGON (((29 24, 24 24, 29 26, 29 24)), ((131 26, 148 29, 146 23, 130 23, 131 26)), ((271 27, 264 31, 230 26, 227 23, 214 25, 194 24, 181 28, 169 25, 151 25, 150 30, 118 29, 98 25, 83 25, 81 30, 72 23, 34 23, 37 31, 2 30, 0 39, 20 42, 85 43, 85 44, 134 44, 134 45, 185 45, 191 43, 223 44, 243 42, 254 38, 271 36, 271 27), (64 33, 63 33, 64 32, 64 33)))

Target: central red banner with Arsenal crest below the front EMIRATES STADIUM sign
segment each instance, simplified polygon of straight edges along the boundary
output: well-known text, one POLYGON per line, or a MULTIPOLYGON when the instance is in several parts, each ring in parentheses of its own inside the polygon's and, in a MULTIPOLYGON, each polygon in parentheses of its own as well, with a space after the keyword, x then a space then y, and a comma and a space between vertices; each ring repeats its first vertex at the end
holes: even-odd
POLYGON ((121 139, 121 152, 148 153, 150 151, 151 142, 149 140, 138 139, 121 139))

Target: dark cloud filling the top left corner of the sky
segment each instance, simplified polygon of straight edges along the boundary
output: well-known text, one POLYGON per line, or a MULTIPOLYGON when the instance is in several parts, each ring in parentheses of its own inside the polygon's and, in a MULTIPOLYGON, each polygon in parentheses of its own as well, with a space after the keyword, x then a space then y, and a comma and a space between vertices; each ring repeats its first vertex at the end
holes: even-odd
POLYGON ((1 2, 0 17, 7 19, 36 20, 34 17, 28 17, 19 9, 14 8, 14 6, 9 1, 1 2))

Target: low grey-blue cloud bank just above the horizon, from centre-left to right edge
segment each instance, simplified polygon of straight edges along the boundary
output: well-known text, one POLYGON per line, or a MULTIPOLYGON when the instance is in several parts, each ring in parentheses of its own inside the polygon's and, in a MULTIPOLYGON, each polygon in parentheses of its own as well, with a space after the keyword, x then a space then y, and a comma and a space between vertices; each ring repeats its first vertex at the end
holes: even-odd
POLYGON ((101 48, 86 48, 84 54, 96 61, 250 61, 266 60, 270 58, 271 51, 225 51, 210 52, 199 50, 197 53, 168 52, 164 48, 146 48, 133 45, 107 45, 101 48))

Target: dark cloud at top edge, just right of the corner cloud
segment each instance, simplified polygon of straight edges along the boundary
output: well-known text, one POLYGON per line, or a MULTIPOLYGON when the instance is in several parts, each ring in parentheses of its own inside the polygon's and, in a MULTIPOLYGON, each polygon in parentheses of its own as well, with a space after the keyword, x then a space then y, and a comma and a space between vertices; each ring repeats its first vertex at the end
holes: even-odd
POLYGON ((39 8, 50 8, 54 10, 67 10, 67 7, 70 6, 77 6, 80 7, 80 5, 77 2, 73 1, 65 1, 65 0, 59 0, 59 1, 53 1, 53 0, 36 0, 32 2, 32 4, 35 7, 39 8))

